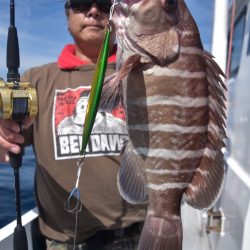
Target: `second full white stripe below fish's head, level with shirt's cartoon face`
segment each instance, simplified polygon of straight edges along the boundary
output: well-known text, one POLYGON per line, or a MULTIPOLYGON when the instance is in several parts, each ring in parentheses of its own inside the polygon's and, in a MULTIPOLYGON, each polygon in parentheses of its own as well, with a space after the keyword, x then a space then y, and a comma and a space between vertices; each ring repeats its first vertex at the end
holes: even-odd
POLYGON ((185 97, 185 96, 149 96, 138 98, 136 101, 130 101, 129 104, 138 106, 169 105, 181 107, 204 107, 208 105, 207 97, 185 97))

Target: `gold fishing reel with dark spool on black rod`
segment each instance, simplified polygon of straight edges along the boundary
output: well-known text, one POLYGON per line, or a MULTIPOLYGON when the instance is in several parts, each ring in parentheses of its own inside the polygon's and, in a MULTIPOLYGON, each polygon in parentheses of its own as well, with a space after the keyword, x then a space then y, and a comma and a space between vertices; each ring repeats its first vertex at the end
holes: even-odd
POLYGON ((37 114, 36 89, 29 82, 4 82, 0 78, 0 119, 23 121, 37 114))

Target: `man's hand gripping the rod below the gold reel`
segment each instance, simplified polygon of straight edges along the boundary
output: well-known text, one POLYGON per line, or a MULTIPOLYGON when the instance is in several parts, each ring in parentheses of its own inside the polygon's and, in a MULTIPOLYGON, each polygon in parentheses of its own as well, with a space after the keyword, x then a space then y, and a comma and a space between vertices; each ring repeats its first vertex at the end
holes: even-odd
MULTIPOLYGON (((28 128, 31 124, 31 118, 27 118, 22 127, 28 128)), ((24 143, 24 137, 19 132, 20 127, 17 122, 0 119, 0 162, 9 162, 9 152, 20 153, 21 148, 18 144, 24 143)))

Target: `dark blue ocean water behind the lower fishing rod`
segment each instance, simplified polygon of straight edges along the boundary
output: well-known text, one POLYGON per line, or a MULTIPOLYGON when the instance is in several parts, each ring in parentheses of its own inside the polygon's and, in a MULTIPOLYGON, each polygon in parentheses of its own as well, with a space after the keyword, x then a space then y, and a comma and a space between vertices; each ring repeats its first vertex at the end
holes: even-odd
MULTIPOLYGON (((19 169, 22 214, 34 208, 35 157, 31 147, 25 148, 23 165, 19 169)), ((13 169, 0 164, 0 228, 16 219, 15 183, 13 169)))

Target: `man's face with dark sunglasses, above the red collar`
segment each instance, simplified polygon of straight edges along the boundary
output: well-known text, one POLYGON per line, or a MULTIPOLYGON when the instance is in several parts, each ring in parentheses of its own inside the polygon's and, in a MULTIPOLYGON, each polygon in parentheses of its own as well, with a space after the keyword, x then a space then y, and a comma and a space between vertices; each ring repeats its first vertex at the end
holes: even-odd
POLYGON ((77 43, 101 45, 109 19, 110 1, 78 0, 76 3, 67 10, 68 28, 71 35, 77 43))

